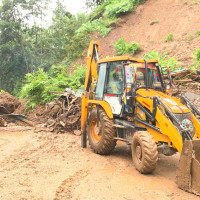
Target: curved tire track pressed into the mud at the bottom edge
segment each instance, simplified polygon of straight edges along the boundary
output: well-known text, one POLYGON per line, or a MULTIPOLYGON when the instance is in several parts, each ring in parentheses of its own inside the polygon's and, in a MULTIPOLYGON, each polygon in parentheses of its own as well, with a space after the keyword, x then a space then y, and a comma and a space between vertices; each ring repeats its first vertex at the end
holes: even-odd
POLYGON ((80 184, 80 181, 85 178, 89 173, 85 170, 79 170, 74 175, 65 179, 62 184, 58 187, 54 200, 72 200, 74 189, 80 184))

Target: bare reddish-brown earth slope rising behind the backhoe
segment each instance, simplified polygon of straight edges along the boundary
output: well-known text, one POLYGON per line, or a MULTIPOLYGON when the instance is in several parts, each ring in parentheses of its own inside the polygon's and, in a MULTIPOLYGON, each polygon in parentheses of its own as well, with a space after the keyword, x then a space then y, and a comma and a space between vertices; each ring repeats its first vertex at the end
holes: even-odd
POLYGON ((142 57, 149 51, 167 52, 188 67, 192 63, 192 53, 199 48, 200 3, 192 0, 148 0, 136 12, 121 16, 113 25, 107 37, 98 32, 93 39, 100 42, 100 57, 114 56, 113 43, 120 38, 126 42, 135 41, 142 46, 142 57), (155 22, 153 25, 152 22, 155 22), (173 40, 164 42, 172 33, 173 40))

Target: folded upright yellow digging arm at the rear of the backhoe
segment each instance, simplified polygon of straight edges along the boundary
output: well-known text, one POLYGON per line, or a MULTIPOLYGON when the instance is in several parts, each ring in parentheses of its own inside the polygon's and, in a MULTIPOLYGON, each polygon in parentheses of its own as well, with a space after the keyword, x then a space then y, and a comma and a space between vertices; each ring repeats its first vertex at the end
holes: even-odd
MULTIPOLYGON (((87 146, 87 116, 88 116, 88 100, 91 92, 97 82, 97 62, 99 60, 99 42, 91 41, 87 53, 87 69, 85 74, 84 93, 82 95, 81 103, 81 146, 87 146)), ((92 94, 93 95, 93 94, 92 94)))

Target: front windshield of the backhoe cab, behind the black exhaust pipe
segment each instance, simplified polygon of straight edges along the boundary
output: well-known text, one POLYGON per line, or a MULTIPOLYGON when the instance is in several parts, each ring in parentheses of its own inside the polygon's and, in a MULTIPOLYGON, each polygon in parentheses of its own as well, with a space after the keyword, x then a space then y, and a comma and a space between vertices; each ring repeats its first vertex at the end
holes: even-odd
MULTIPOLYGON (((125 65, 126 83, 131 83, 136 87, 145 87, 145 64, 131 63, 125 65)), ((148 64, 148 86, 150 88, 161 88, 161 81, 155 63, 148 64)))

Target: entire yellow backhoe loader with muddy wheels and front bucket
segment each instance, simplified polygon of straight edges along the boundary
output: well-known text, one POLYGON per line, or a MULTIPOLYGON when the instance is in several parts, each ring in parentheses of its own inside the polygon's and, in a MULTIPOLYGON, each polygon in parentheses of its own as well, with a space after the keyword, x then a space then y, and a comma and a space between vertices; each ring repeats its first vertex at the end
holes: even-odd
POLYGON ((99 60, 98 52, 99 43, 92 41, 82 95, 82 147, 88 139, 95 153, 106 155, 116 141, 124 141, 131 145, 134 166, 143 174, 156 168, 158 151, 168 156, 179 152, 177 184, 200 195, 198 109, 184 95, 169 95, 170 72, 158 60, 99 60))

